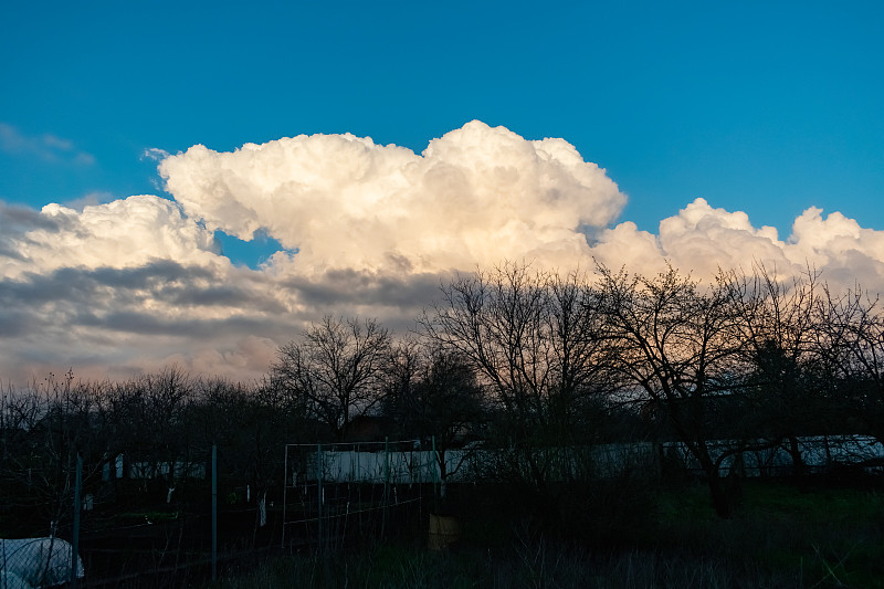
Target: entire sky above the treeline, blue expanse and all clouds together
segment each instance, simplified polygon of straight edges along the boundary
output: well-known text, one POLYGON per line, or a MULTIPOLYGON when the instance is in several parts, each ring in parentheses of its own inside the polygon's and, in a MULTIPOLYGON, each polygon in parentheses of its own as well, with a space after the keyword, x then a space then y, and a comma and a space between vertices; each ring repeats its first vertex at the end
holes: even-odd
POLYGON ((884 292, 882 23, 872 1, 6 2, 0 378, 253 378, 323 314, 399 328, 501 257, 884 292))

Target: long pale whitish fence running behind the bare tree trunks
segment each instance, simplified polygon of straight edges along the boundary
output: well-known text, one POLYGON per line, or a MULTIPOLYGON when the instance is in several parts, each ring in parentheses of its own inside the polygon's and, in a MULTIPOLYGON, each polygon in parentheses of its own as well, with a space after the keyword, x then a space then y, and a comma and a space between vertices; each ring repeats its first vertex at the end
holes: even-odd
MULTIPOLYGON (((739 456, 746 476, 776 476, 788 473, 792 456, 783 443, 765 440, 709 440, 713 460, 722 459, 726 475, 739 456), (740 450, 741 449, 741 450, 740 450)), ((371 444, 364 444, 371 448, 371 444)), ((378 448, 380 444, 375 444, 378 448)), ((810 469, 824 469, 832 464, 857 464, 869 472, 884 471, 884 444, 869 435, 817 435, 798 439, 804 464, 810 469), (881 462, 875 462, 881 461, 881 462), (870 465, 872 464, 872 465, 870 465)), ((301 470, 293 469, 292 485, 298 481, 315 481, 322 473, 332 483, 430 483, 440 481, 436 454, 427 450, 359 451, 352 444, 347 450, 309 452, 301 470), (318 464, 317 464, 318 461, 318 464), (322 465, 319 469, 318 465, 322 465)), ((548 480, 571 477, 611 477, 629 469, 631 472, 653 474, 660 467, 661 456, 678 457, 687 469, 699 471, 699 464, 681 442, 651 442, 597 444, 586 448, 539 448, 532 450, 478 449, 449 450, 444 454, 449 482, 475 480, 477 473, 493 473, 494 464, 506 464, 530 475, 530 464, 540 464, 548 480), (528 461, 527 459, 532 460, 528 461), (490 470, 487 466, 492 466, 490 470)))

